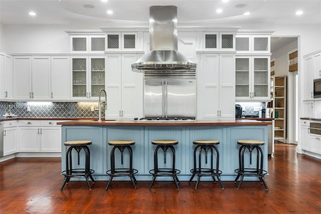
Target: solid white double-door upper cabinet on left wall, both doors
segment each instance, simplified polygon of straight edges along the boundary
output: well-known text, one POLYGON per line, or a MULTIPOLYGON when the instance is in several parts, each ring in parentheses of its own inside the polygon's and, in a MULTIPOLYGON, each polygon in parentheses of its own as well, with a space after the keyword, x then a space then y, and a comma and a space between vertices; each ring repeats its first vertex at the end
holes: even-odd
POLYGON ((14 98, 50 98, 50 56, 14 57, 14 98))

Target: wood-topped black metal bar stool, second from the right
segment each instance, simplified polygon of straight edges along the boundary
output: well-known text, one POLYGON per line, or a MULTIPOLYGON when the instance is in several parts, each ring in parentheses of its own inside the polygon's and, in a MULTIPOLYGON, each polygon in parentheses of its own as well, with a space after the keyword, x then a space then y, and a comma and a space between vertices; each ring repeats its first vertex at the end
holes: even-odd
POLYGON ((221 181, 221 174, 222 171, 219 170, 219 160, 220 160, 220 153, 219 150, 216 148, 215 145, 220 144, 220 141, 217 140, 196 140, 193 141, 193 144, 197 145, 194 149, 194 169, 191 169, 192 172, 192 177, 189 181, 189 183, 192 182, 193 178, 195 175, 197 175, 197 182, 196 182, 196 186, 195 189, 197 189, 200 179, 203 176, 211 176, 214 180, 214 182, 216 182, 215 177, 217 177, 217 180, 220 182, 220 185, 222 187, 222 189, 224 189, 224 185, 221 181), (202 151, 204 150, 205 152, 205 163, 207 164, 207 153, 208 151, 211 151, 211 168, 202 168, 202 151), (216 152, 216 168, 214 169, 213 167, 213 150, 215 150, 216 152), (197 162, 197 158, 196 158, 196 153, 197 151, 199 151, 199 167, 196 167, 196 162, 197 162))

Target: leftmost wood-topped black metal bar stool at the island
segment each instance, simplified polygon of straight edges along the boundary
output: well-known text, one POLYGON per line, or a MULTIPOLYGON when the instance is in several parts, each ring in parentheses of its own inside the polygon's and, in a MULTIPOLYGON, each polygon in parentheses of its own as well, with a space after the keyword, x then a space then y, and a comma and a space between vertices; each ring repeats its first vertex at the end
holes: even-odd
POLYGON ((67 141, 64 143, 65 146, 69 146, 66 153, 66 170, 62 171, 61 174, 65 176, 64 182, 61 185, 60 190, 63 190, 66 183, 70 181, 72 177, 84 177, 86 178, 87 184, 89 186, 89 190, 91 190, 91 185, 89 183, 88 177, 95 183, 94 178, 92 177, 92 173, 95 171, 90 169, 90 151, 88 145, 91 145, 91 141, 67 141), (72 150, 76 150, 78 157, 78 165, 79 165, 79 153, 83 149, 85 152, 85 168, 84 169, 73 169, 72 168, 72 150))

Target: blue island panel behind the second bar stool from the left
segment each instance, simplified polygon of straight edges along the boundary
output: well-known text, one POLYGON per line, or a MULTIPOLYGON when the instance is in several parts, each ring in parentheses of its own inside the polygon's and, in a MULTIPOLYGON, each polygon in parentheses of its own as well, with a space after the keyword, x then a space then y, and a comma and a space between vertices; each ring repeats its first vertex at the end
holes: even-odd
MULTIPOLYGON (((132 167, 138 170, 136 175, 143 175, 144 170, 144 127, 141 126, 104 126, 104 141, 103 147, 106 151, 107 158, 104 163, 104 172, 110 170, 110 152, 113 146, 108 145, 109 141, 113 140, 130 140, 135 141, 134 145, 131 145, 132 149, 132 167)), ((118 149, 115 150, 115 168, 129 168, 129 152, 127 149, 123 153, 123 165, 121 165, 121 155, 118 149)), ((106 179, 109 177, 106 177, 106 179)), ((121 178, 120 178, 121 179, 121 178)), ((128 179, 128 177, 124 178, 128 179)))

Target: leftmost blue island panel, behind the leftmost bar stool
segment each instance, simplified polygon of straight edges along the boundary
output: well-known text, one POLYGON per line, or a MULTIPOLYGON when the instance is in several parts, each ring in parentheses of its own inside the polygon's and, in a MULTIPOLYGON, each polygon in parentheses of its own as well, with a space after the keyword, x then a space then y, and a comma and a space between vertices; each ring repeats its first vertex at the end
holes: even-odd
MULTIPOLYGON (((90 168, 95 170, 95 175, 103 174, 103 158, 106 157, 106 152, 103 150, 103 133, 102 126, 62 126, 62 156, 61 168, 66 170, 66 150, 69 147, 64 146, 66 141, 92 141, 88 146, 90 150, 90 168)), ((85 168, 85 153, 80 152, 80 165, 77 165, 77 152, 72 151, 72 164, 74 168, 85 168)), ((94 177, 95 178, 95 177, 94 177)))

